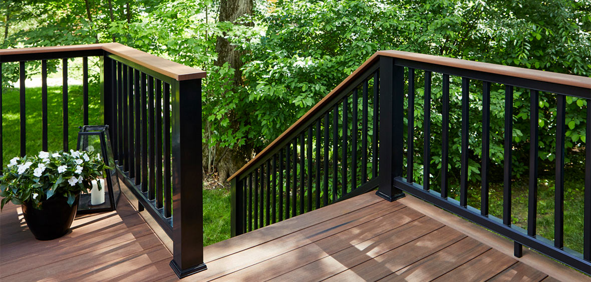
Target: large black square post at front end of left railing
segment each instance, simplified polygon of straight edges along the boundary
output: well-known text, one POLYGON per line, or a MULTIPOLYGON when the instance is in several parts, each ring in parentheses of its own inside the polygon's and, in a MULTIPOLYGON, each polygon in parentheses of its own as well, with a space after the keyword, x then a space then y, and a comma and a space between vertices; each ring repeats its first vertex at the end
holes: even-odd
POLYGON ((172 85, 173 260, 179 278, 206 270, 203 263, 201 79, 172 85))

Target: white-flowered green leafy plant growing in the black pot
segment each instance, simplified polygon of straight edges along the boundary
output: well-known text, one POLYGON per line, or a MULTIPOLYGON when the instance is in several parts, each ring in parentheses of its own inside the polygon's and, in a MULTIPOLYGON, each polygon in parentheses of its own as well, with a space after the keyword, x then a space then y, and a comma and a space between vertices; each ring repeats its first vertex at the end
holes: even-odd
POLYGON ((106 168, 100 154, 95 155, 93 150, 41 151, 14 157, 0 175, 0 208, 8 201, 32 202, 35 208, 41 208, 41 203, 54 195, 67 197, 71 206, 76 194, 92 188, 91 181, 102 176, 106 168))

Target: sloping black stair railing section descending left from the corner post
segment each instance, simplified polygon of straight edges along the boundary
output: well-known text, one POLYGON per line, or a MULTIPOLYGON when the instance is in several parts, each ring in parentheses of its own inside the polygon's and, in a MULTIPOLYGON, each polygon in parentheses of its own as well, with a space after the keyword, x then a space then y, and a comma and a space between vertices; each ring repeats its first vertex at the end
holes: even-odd
POLYGON ((229 178, 232 236, 378 186, 379 79, 363 65, 229 178))

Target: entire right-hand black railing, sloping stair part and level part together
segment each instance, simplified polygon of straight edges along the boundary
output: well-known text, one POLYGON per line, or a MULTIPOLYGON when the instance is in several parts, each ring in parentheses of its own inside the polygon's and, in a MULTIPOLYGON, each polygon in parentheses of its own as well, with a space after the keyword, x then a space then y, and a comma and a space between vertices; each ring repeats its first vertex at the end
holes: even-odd
MULTIPOLYGON (((439 78, 438 78, 439 81, 439 78)), ((438 87, 439 88, 439 87, 438 87)), ((439 114, 439 113, 438 113, 439 114)), ((457 119, 456 119, 457 120, 457 119)), ((437 132, 439 133, 439 132, 437 132)), ((435 57, 398 51, 382 51, 368 59, 339 85, 333 92, 312 108, 296 124, 265 148, 255 159, 232 175, 232 235, 239 235, 269 224, 268 211, 278 211, 278 220, 282 220, 285 207, 285 218, 310 211, 333 203, 343 198, 378 188, 378 195, 396 200, 404 197, 401 190, 444 208, 467 220, 489 228, 515 241, 515 256, 521 256, 522 245, 526 245, 540 253, 591 274, 591 79, 573 75, 554 74, 550 72, 532 71, 480 62, 435 57), (417 71, 423 74, 423 180, 422 185, 415 183, 417 170, 414 167, 414 142, 416 138, 414 104, 417 71), (405 75, 406 74, 406 75, 405 75), (431 147, 434 139, 431 132, 431 86, 434 74, 441 74, 441 173, 436 179, 430 176, 432 164, 431 147), (460 144, 450 148, 450 78, 460 78, 461 83, 461 117, 459 118, 460 144), (368 104, 368 85, 374 89, 374 98, 368 104), (470 84, 482 84, 482 92, 470 91, 470 84), (379 87, 376 87, 379 85, 379 87), (491 89, 505 88, 504 122, 504 189, 502 198, 502 218, 489 214, 489 176, 491 174, 491 89), (511 190, 512 182, 512 125, 514 88, 525 88, 530 92, 530 180, 528 191, 527 230, 512 224, 511 190), (359 104, 358 89, 362 98, 362 145, 358 146, 357 134, 350 137, 349 130, 357 132, 357 105, 359 104), (556 188, 554 205, 554 240, 550 241, 536 230, 537 184, 538 184, 538 102, 539 93, 551 93, 557 99, 556 112, 556 188), (406 94, 406 95, 405 95, 406 94), (475 107, 469 95, 482 95, 482 131, 470 130, 469 110, 475 107), (583 217, 583 253, 564 246, 564 151, 565 151, 565 115, 566 97, 576 97, 587 101, 586 112, 586 146, 584 175, 584 214, 583 217), (379 102, 378 102, 379 101, 379 102), (349 104, 353 105, 349 114, 349 104), (376 107, 379 105, 379 107, 376 107), (404 122, 404 107, 408 114, 404 122), (379 108, 379 112, 378 112, 379 108), (369 130, 368 112, 374 112, 369 130), (336 113, 336 114, 335 114, 336 113), (330 125, 330 115, 333 122, 330 125), (348 116, 349 115, 349 116, 348 116), (342 117, 348 117, 342 119, 342 117), (404 132, 404 127, 407 132, 404 132), (379 132, 376 131, 379 128, 379 132), (329 132, 332 131, 332 135, 329 132), (313 133, 316 133, 314 136, 313 133), (480 209, 468 205, 469 200, 469 147, 470 132, 482 135, 480 209), (371 133, 371 134, 369 134, 371 133), (404 136, 406 133, 406 137, 404 136), (379 136, 379 141, 376 137, 379 136), (330 147, 332 141, 332 147, 330 147), (372 144, 371 150, 368 142, 372 144), (316 144, 314 147, 313 144, 316 144), (342 150, 348 146, 355 150, 342 150), (457 146, 459 145, 459 146, 457 146), (379 148, 377 148, 378 146, 379 148), (459 148, 458 148, 459 147, 459 148), (307 148, 307 151, 304 150, 307 148), (320 151, 323 148, 324 151, 320 151), (454 149, 456 148, 456 149, 454 149), (314 150, 316 149, 316 154, 314 150), (339 151, 342 154, 339 158, 339 151), (404 157, 404 152, 407 152, 404 157), (449 197, 450 194, 450 154, 459 150, 459 200, 449 197), (379 160, 377 152, 379 151, 379 160), (367 154, 371 157, 368 157, 367 154), (361 156, 361 170, 356 166, 361 156), (307 165, 305 161, 307 160, 307 165), (297 161, 299 161, 299 166, 297 161), (329 162, 332 161, 332 168, 329 162), (365 165, 373 164, 371 175, 365 165), (270 162, 270 164, 269 164, 270 162), (379 163, 379 175, 376 173, 379 163), (278 170, 277 170, 278 164, 278 170), (406 175, 404 168, 406 164, 406 175), (269 165, 271 170, 269 171, 269 165), (285 165, 285 166, 284 166, 285 165), (265 171, 265 168, 267 170, 265 171), (316 172, 314 172, 316 168, 316 172), (357 179, 359 175, 361 178, 357 179), (260 176, 259 176, 260 175, 260 176), (284 176, 287 176, 286 178, 284 176), (298 177, 299 176, 299 181, 298 177), (307 176, 307 178, 306 178, 307 176), (293 177, 293 181, 291 181, 293 177), (340 178, 339 178, 340 177, 340 178), (272 178, 271 181, 269 179, 272 178), (307 180, 306 180, 307 179, 307 180), (321 181, 321 179, 323 181, 321 181), (313 181, 315 180, 315 181, 313 181), (328 181, 327 181, 328 180, 328 181), (322 182, 322 184, 321 184, 322 182), (293 183, 293 184, 290 184, 293 183), (431 185, 430 185, 431 183, 431 185), (439 185, 433 185, 438 184, 439 185), (266 185, 266 186, 265 186, 266 185), (349 188, 349 186, 352 186, 349 188), (435 187, 437 186, 437 187, 435 187), (295 188, 299 188, 296 191, 295 188), (434 190, 436 188, 436 190, 434 190), (439 190, 439 191, 437 191, 439 190), (254 194, 254 198, 253 195, 254 194), (259 200, 259 195, 261 198, 259 200), (269 204, 269 195, 272 202, 269 204), (328 197, 327 195, 332 195, 328 197), (263 197, 267 201, 263 201, 263 197), (316 197, 316 205, 311 204, 311 197, 316 197), (282 203, 285 199, 285 204, 282 203), (277 200, 277 201, 275 201, 277 200), (291 201, 291 214, 290 214, 291 201), (260 202, 260 203, 259 203, 260 202), (278 202, 278 203, 277 203, 278 202), (299 213, 294 205, 299 203, 299 213), (307 204, 305 204, 307 203, 307 204), (304 208, 307 207, 307 208, 304 208), (263 220, 267 211, 266 221, 263 220)), ((437 153, 439 155, 439 152, 437 153)), ((580 188, 580 187, 577 187, 580 188)), ((275 217, 271 216, 271 222, 275 217)))

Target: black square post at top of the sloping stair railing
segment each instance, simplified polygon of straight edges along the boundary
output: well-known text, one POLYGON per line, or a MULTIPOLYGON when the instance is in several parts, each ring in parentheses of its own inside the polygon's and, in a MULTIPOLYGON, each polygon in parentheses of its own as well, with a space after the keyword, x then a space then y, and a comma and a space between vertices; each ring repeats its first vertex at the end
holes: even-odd
POLYGON ((402 175, 402 118, 404 105, 404 67, 394 58, 379 58, 379 187, 376 192, 388 201, 404 197, 394 187, 394 178, 402 175))

